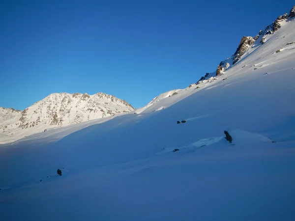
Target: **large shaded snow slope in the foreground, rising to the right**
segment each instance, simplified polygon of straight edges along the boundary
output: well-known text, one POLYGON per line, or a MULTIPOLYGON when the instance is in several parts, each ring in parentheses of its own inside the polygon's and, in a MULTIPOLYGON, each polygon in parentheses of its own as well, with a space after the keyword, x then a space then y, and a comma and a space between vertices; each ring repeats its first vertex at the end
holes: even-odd
POLYGON ((220 75, 0 145, 0 220, 293 221, 294 9, 220 75))

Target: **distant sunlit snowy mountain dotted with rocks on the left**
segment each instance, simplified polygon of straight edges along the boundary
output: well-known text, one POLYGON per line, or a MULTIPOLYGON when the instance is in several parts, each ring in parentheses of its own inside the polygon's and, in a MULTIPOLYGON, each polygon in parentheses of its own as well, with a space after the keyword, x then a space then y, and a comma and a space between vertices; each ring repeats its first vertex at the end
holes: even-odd
POLYGON ((24 111, 0 107, 0 143, 133 110, 126 101, 104 93, 54 93, 24 111))

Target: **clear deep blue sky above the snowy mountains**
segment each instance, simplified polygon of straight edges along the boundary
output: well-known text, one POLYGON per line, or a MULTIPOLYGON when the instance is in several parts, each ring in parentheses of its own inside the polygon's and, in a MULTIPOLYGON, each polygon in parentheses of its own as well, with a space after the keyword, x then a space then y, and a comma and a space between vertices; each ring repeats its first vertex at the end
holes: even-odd
POLYGON ((1 0, 0 106, 104 92, 135 108, 195 83, 294 0, 1 0))

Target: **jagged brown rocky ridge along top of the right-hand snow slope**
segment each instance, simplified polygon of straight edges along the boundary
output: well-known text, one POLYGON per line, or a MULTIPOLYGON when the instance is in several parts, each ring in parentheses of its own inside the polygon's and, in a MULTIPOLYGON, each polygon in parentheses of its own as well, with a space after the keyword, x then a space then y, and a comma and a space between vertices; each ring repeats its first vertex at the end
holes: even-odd
POLYGON ((265 44, 267 38, 278 29, 280 29, 283 22, 290 22, 294 18, 295 6, 293 6, 289 13, 279 16, 271 25, 267 26, 265 30, 260 30, 256 36, 243 36, 240 40, 240 43, 238 44, 234 55, 232 55, 230 58, 227 58, 226 60, 221 61, 217 66, 216 71, 212 73, 206 73, 206 75, 203 76, 197 83, 193 83, 190 86, 202 83, 204 80, 208 80, 209 78, 214 78, 215 76, 222 75, 224 71, 233 67, 241 59, 242 55, 245 55, 245 53, 250 48, 258 47, 262 44, 265 44))

